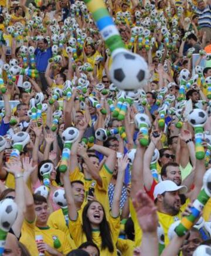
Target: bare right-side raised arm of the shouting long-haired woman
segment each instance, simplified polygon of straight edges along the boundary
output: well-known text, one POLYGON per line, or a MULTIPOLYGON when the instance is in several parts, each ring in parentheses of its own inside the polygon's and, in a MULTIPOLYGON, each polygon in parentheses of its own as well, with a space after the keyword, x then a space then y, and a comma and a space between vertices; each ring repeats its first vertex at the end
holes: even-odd
POLYGON ((117 183, 115 184, 113 203, 111 207, 111 214, 114 218, 120 215, 120 198, 122 193, 125 169, 127 168, 127 165, 128 165, 127 155, 125 155, 122 158, 118 158, 117 183))

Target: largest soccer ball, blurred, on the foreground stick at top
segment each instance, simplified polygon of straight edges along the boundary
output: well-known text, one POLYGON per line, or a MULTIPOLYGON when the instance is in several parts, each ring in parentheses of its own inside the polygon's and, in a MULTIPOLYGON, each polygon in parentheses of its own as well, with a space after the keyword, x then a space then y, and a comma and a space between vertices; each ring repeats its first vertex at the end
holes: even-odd
POLYGON ((127 50, 120 50, 116 54, 115 52, 110 69, 114 85, 121 90, 135 90, 143 87, 149 74, 144 58, 127 50))

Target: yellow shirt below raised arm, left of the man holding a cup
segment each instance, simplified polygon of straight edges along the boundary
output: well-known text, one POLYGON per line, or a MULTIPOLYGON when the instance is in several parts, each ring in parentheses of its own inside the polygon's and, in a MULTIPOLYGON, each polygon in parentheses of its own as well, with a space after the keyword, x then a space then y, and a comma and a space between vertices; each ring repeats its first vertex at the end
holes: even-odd
POLYGON ((20 242, 26 246, 30 255, 38 255, 38 247, 35 242, 35 221, 32 223, 23 221, 20 242))

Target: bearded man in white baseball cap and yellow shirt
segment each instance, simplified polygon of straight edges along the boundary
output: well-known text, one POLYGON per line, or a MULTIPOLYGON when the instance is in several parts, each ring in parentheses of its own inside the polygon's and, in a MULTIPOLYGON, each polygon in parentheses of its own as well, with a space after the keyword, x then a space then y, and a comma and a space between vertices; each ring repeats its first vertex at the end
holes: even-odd
POLYGON ((155 186, 153 196, 158 208, 158 220, 164 230, 165 245, 169 243, 169 227, 172 223, 181 219, 181 198, 179 194, 186 192, 187 187, 177 186, 171 180, 161 181, 155 186))

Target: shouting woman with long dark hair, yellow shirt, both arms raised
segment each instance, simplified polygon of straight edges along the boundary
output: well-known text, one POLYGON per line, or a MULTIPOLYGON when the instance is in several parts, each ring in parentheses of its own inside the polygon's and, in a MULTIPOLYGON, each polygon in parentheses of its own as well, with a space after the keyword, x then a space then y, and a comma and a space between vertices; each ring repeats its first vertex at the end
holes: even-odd
POLYGON ((101 256, 117 255, 117 238, 120 231, 120 197, 124 180, 124 171, 128 159, 125 156, 118 159, 118 176, 114 190, 114 200, 110 214, 107 214, 101 203, 96 200, 89 201, 83 209, 80 219, 74 204, 69 173, 64 174, 64 188, 69 210, 69 231, 76 246, 83 242, 94 242, 100 250, 101 256))

